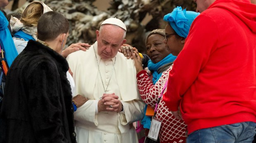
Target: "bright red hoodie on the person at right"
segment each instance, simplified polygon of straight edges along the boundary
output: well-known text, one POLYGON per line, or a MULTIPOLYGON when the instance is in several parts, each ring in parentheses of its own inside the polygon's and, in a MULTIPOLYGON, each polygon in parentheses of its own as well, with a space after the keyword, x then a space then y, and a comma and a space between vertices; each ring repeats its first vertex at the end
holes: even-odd
POLYGON ((191 25, 163 97, 188 133, 256 122, 256 5, 216 0, 191 25))

